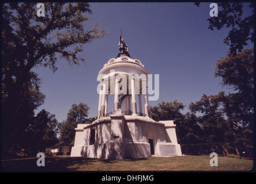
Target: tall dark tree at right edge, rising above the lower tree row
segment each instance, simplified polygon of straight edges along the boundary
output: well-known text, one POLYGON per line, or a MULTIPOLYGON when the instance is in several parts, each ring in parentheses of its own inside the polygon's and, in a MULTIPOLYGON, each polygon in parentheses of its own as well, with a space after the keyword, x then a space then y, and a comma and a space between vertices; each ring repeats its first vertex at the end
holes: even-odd
POLYGON ((240 132, 236 141, 253 140, 254 116, 254 50, 245 49, 235 56, 228 54, 217 61, 214 76, 221 77, 222 86, 232 87, 234 93, 223 98, 228 121, 240 132), (246 138, 245 138, 246 137, 246 138))

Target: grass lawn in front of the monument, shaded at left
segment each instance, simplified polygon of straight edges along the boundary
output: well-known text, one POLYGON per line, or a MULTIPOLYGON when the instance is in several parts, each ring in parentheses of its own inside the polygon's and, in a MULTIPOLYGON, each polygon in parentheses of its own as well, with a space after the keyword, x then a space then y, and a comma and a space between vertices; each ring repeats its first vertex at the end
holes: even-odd
POLYGON ((218 157, 210 166, 209 156, 150 157, 145 159, 105 160, 92 158, 46 157, 45 166, 37 158, 2 160, 3 171, 250 171, 252 159, 218 157))

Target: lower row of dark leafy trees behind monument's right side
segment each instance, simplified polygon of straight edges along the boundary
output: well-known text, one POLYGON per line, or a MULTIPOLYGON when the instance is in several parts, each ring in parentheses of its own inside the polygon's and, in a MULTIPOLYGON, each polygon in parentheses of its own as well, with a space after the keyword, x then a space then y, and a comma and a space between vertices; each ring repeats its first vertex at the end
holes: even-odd
MULTIPOLYGON (((244 118, 238 113, 239 101, 234 99, 233 95, 225 94, 224 91, 217 95, 204 94, 199 101, 189 104, 190 112, 186 114, 180 112, 185 105, 177 101, 162 101, 149 110, 155 121, 174 120, 180 144, 224 142, 246 144, 253 141, 253 121, 244 122, 244 118)), ((247 117, 250 114, 243 113, 243 116, 247 117)))

